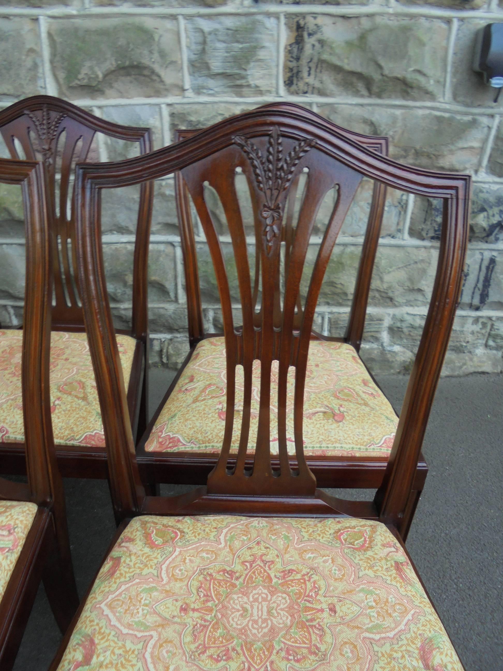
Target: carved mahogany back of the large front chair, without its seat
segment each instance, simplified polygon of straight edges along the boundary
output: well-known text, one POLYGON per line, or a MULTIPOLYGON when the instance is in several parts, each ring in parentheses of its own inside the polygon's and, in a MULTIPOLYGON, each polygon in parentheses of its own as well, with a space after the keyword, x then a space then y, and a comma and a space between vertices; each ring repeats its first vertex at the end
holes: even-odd
MULTIPOLYGON (((377 508, 361 507, 361 516, 372 519, 396 519, 403 513, 404 492, 412 486, 412 476, 421 450, 423 433, 412 421, 420 413, 421 426, 426 424, 439 378, 441 362, 459 295, 461 269, 467 240, 467 207, 469 176, 431 172, 410 168, 362 147, 337 127, 319 123, 313 115, 294 109, 258 109, 232 117, 148 156, 116 164, 80 164, 76 169, 76 228, 78 269, 86 327, 97 378, 101 411, 111 421, 104 421, 112 493, 119 515, 164 511, 180 514, 180 510, 212 512, 211 501, 225 499, 226 511, 235 511, 237 501, 258 497, 264 506, 254 509, 266 514, 284 513, 285 501, 298 502, 296 514, 309 514, 309 501, 329 501, 316 490, 316 481, 309 470, 302 441, 302 407, 307 356, 313 317, 323 276, 333 246, 357 187, 364 176, 379 185, 388 185, 408 193, 444 199, 445 218, 437 279, 433 289, 421 345, 416 356, 408 400, 400 416, 398 440, 394 444, 388 474, 376 498, 377 508), (262 273, 262 310, 260 324, 254 315, 247 239, 235 189, 235 170, 247 178, 254 211, 256 239, 260 240, 262 273), (289 251, 284 297, 278 304, 277 278, 280 264, 281 225, 288 199, 288 190, 304 168, 307 174, 306 193, 300 207, 298 223, 289 251), (128 433, 127 403, 121 384, 121 366, 113 338, 113 323, 107 303, 103 256, 101 254, 100 199, 101 189, 124 187, 176 173, 182 180, 197 209, 205 231, 217 277, 223 312, 226 349, 227 403, 225 435, 217 466, 211 472, 207 489, 185 498, 183 503, 158 497, 145 497, 139 480, 133 444, 128 433), (221 200, 229 224, 229 234, 236 260, 237 285, 242 309, 242 323, 235 323, 231 305, 229 276, 225 269, 223 250, 212 213, 205 201, 205 184, 213 187, 221 200), (300 280, 306 263, 306 250, 323 198, 337 187, 337 199, 313 265, 309 289, 296 323, 295 308, 300 280), (260 233, 260 235, 258 235, 260 233), (435 338, 431 338, 434 333, 435 338), (250 397, 254 361, 260 362, 260 410, 258 437, 252 468, 247 468, 247 445, 250 423, 250 397), (272 469, 270 454, 270 389, 273 363, 278 366, 278 450, 279 468, 272 469), (235 425, 235 371, 243 366, 243 413, 235 425), (286 449, 286 389, 288 370, 294 368, 294 440, 297 468, 292 469, 286 449), (416 372, 418 371, 418 372, 416 372), (229 448, 233 431, 239 435, 235 466, 229 466, 229 448), (190 499, 190 500, 189 500, 190 499), (163 503, 164 502, 164 503, 163 503), (302 507, 305 504, 306 507, 302 507), (384 511, 384 512, 383 512, 384 511)), ((179 186, 180 183, 178 183, 179 186)), ((374 192, 375 193, 375 192, 374 192)), ((382 194, 374 202, 379 215, 384 204, 382 194)), ((178 209, 183 209, 183 199, 178 209)), ((372 235, 378 230, 377 216, 372 235)), ((183 221, 188 224, 188 221, 183 221)), ((188 225, 187 225, 188 230, 188 225)), ((372 238, 372 236, 371 236, 372 238)), ((370 244, 372 248, 372 244, 370 244)), ((370 250, 372 252, 372 250, 370 250)), ((375 252, 374 252, 375 253, 375 252)), ((372 256, 372 254, 370 254, 372 256)), ((194 285, 197 277, 192 276, 194 285)), ((366 283, 360 282, 361 297, 368 295, 366 283)), ((197 311, 196 311, 197 313, 197 311)), ((351 338, 361 340, 361 313, 353 323, 351 338)), ((364 315, 364 313, 363 313, 364 315)), ((195 314, 197 317, 197 314, 195 314)), ((199 317, 197 317, 199 319, 199 317)), ((202 323, 202 322, 201 322, 202 323)), ((201 323, 199 326, 201 326, 201 323)), ((202 331, 199 331, 201 333, 202 331)), ((192 337, 197 336, 197 329, 192 337)), ((407 499, 405 499, 406 501, 407 499)), ((331 499, 325 514, 354 514, 355 506, 331 499), (351 512, 353 511, 353 512, 351 512)), ((222 510, 219 508, 218 510, 222 510)), ((239 511, 243 511, 241 507, 239 511)))

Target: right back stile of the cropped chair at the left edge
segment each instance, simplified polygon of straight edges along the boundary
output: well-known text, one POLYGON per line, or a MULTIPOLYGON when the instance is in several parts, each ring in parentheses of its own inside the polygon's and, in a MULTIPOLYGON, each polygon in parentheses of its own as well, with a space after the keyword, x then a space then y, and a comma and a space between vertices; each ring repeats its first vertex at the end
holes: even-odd
MULTIPOLYGON (((40 162, 2 159, 0 181, 21 185, 23 190, 26 276, 21 380, 28 498, 47 508, 56 503, 61 507, 57 517, 66 524, 50 416, 52 236, 47 219, 47 172, 40 162)), ((2 480, 2 483, 7 482, 2 480)), ((17 484, 9 482, 7 489, 1 486, 0 497, 5 499, 12 495, 17 484)), ((22 484, 19 493, 25 493, 22 484)))

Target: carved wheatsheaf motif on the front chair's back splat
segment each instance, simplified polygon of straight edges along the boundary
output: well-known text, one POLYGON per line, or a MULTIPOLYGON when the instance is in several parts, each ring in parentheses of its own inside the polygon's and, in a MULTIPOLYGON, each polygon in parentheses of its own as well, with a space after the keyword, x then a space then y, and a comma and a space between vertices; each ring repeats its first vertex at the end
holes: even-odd
POLYGON ((262 205, 260 215, 266 222, 264 237, 270 251, 274 238, 280 234, 283 216, 282 204, 278 202, 280 195, 290 186, 298 162, 315 146, 316 140, 297 142, 284 158, 283 142, 277 126, 274 126, 269 136, 266 156, 254 142, 243 136, 235 136, 233 142, 243 150, 251 164, 257 189, 264 193, 266 202, 262 205))

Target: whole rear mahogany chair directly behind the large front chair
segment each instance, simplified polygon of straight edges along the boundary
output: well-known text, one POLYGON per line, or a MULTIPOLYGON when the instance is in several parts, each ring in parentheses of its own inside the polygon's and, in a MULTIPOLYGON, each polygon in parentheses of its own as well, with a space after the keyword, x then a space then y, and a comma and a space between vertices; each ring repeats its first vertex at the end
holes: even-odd
MULTIPOLYGON (((360 146, 372 149, 382 156, 388 155, 388 138, 377 136, 364 136, 345 130, 331 121, 327 121, 320 115, 294 105, 293 103, 274 103, 264 105, 260 109, 270 111, 292 112, 300 115, 302 119, 317 124, 327 134, 339 132, 349 140, 357 142, 360 146)), ((201 130, 178 130, 176 141, 190 138, 201 132, 201 130)), ((237 166, 237 170, 241 170, 237 166)), ((306 177, 302 172, 296 174, 288 189, 288 198, 284 205, 284 221, 278 221, 280 225, 281 242, 284 244, 284 278, 276 278, 278 291, 280 281, 287 281, 288 265, 295 240, 296 226, 300 208, 296 207, 298 201, 302 202, 305 196, 304 189, 300 184, 300 178, 306 177), (302 193, 303 192, 303 193, 302 193)), ((309 174, 307 175, 309 178, 309 174)), ((236 178, 246 176, 237 172, 236 178)), ((247 187, 244 187, 245 189, 247 187)), ((241 216, 244 214, 242 189, 237 190, 237 199, 241 216)), ((180 222, 180 241, 184 259, 185 287, 187 295, 187 317, 188 317, 188 340, 190 347, 194 348, 203 340, 211 336, 213 348, 211 350, 211 370, 204 370, 191 358, 187 368, 179 372, 179 377, 188 380, 172 384, 168 393, 158 407, 150 422, 144 439, 139 442, 137 457, 138 462, 144 470, 144 477, 148 481, 156 482, 179 482, 185 484, 204 484, 206 478, 217 463, 218 453, 221 447, 224 433, 224 418, 222 396, 225 393, 225 344, 223 333, 205 333, 203 325, 203 301, 201 299, 201 287, 198 273, 198 244, 192 221, 190 208, 190 195, 183 176, 180 172, 175 173, 175 195, 178 203, 178 218, 180 222), (195 368, 194 368, 195 366, 195 368), (209 385, 213 385, 211 393, 205 393, 209 385), (185 393, 180 394, 181 390, 185 393), (190 433, 184 428, 184 415, 190 413, 194 408, 194 397, 197 397, 197 423, 192 423, 190 433), (181 412, 180 412, 181 410, 181 412), (162 416, 161 419, 159 417, 162 416), (153 440, 151 437, 154 427, 169 419, 169 437, 166 435, 162 440, 153 440), (209 429, 211 427, 211 429, 209 429), (186 440, 184 440, 186 439, 186 440)), ((335 350, 333 343, 341 342, 341 338, 331 338, 312 331, 311 338, 316 340, 313 344, 314 351, 318 351, 319 357, 315 366, 309 366, 306 378, 306 390, 309 398, 304 405, 304 422, 309 423, 309 437, 304 435, 306 444, 304 453, 307 456, 309 467, 315 474, 319 486, 323 487, 351 487, 351 488, 378 488, 382 482, 386 464, 392 449, 393 440, 398 425, 398 414, 386 400, 384 392, 379 388, 376 380, 369 370, 359 359, 359 348, 361 346, 364 332, 366 309, 370 291, 370 281, 374 260, 378 249, 384 204, 386 202, 386 185, 374 183, 372 201, 366 236, 361 249, 359 270, 355 281, 352 307, 343 342, 351 348, 335 350), (345 358, 351 352, 357 360, 357 366, 353 366, 351 372, 347 371, 345 380, 340 380, 340 367, 347 366, 345 358), (344 356, 345 354, 345 356, 344 356), (333 386, 335 395, 327 395, 325 390, 316 389, 319 378, 322 376, 325 385, 333 386), (317 379, 318 378, 318 379, 317 379), (339 395, 337 395, 339 388, 339 395), (386 419, 382 416, 386 415, 386 419)), ((248 215, 253 217, 249 208, 248 215)), ((214 213, 211 213, 215 219, 214 213)), ((229 216, 232 216, 229 214, 229 216)), ((260 220, 262 221, 262 220, 260 220)), ((260 248, 261 223, 255 226, 256 249, 260 248)), ((254 225, 249 221, 243 222, 249 231, 253 231, 254 225)), ((323 222, 326 225, 326 221, 323 222)), ((322 232, 323 226, 321 227, 322 232)), ((227 232, 227 229, 226 229, 227 232)), ((319 233, 320 235, 320 233, 319 233)), ((199 243, 201 248, 201 243, 199 243)), ((260 254, 255 254, 254 278, 251 302, 256 313, 256 321, 260 321, 260 254)), ((281 271, 280 271, 281 272, 281 271)), ((239 302, 239 297, 235 297, 239 302)), ((298 327, 302 321, 302 299, 300 293, 296 299, 296 311, 294 313, 294 327, 298 327)), ((203 348, 205 345, 201 345, 203 348)), ((201 348, 199 351, 201 351, 201 348)), ((352 365, 352 364, 351 364, 352 365)), ((288 393, 287 405, 291 413, 293 407, 292 387, 288 393)), ((256 410, 256 409, 255 409, 256 410)), ((288 440, 293 447, 293 436, 290 433, 288 440)), ((237 442, 233 441, 231 452, 237 451, 237 442)), ((277 452, 277 451, 276 451, 277 452)), ((294 460, 294 450, 291 450, 290 458, 294 460)), ((416 477, 412 487, 412 495, 407 509, 407 519, 404 524, 404 535, 406 538, 412 517, 416 509, 419 497, 423 491, 428 466, 421 454, 416 468, 416 477)))

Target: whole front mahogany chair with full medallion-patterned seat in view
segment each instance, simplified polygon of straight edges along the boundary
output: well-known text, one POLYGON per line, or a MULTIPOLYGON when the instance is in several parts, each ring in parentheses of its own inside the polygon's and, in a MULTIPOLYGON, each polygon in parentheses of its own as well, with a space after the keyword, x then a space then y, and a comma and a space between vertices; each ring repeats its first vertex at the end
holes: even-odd
MULTIPOLYGON (((400 535, 461 286, 469 176, 410 168, 335 130, 327 133, 294 111, 258 109, 147 156, 82 164, 76 189, 80 290, 104 416, 111 491, 123 523, 51 670, 461 670, 400 535), (245 227, 234 189, 237 166, 247 175, 260 222, 259 313, 253 309, 245 227), (309 168, 307 194, 286 289, 278 300, 278 221, 288 188, 304 167, 309 168), (176 170, 205 229, 223 303, 225 433, 207 486, 154 497, 146 495, 139 478, 129 425, 100 252, 100 201, 103 189, 176 170), (382 484, 373 501, 344 501, 317 489, 304 456, 302 411, 306 371, 323 356, 319 341, 311 339, 319 287, 363 176, 441 198, 443 226, 433 297, 382 484), (231 287, 205 203, 205 183, 219 193, 227 211, 242 323, 233 321, 231 287), (306 247, 317 207, 334 184, 337 201, 296 324, 306 247), (290 378, 289 370, 294 373, 290 378), (255 405, 252 395, 259 381, 255 405), (295 462, 288 454, 290 384, 295 462), (237 415, 239 387, 243 402, 237 415), (272 389, 277 394, 274 412, 272 389), (252 417, 254 412, 258 418, 252 417), (233 435, 239 447, 231 457, 233 435), (276 435, 277 456, 272 456, 271 436, 276 435)), ((329 346, 333 352, 347 352, 343 374, 360 367, 351 345, 329 346)), ((202 340, 190 359, 209 368, 215 351, 215 338, 202 340)), ((174 392, 179 397, 190 393, 191 382, 184 376, 174 392)), ((197 416, 194 401, 191 412, 197 416)), ((186 440, 191 421, 186 415, 186 440)), ((162 440, 169 432, 169 425, 154 429, 152 439, 162 440)))

